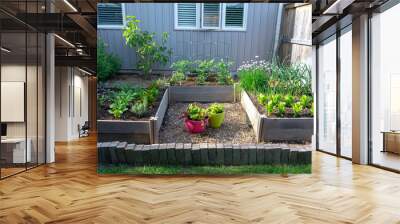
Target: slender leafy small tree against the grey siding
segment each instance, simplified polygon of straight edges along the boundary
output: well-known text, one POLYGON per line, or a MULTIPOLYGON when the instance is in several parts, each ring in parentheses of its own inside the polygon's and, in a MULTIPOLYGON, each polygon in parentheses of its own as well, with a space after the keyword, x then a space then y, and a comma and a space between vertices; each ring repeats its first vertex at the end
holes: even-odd
POLYGON ((136 48, 138 69, 148 76, 155 63, 165 65, 169 60, 172 51, 166 47, 168 33, 163 32, 161 43, 158 43, 154 39, 155 33, 143 31, 139 27, 140 20, 135 16, 128 16, 127 20, 127 26, 123 32, 126 44, 131 48, 136 48))

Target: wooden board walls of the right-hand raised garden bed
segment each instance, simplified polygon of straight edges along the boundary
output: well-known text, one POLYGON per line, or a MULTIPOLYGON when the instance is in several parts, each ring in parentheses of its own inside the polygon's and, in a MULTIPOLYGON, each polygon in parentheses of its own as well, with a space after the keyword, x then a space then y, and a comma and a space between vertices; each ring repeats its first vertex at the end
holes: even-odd
POLYGON ((247 113, 258 142, 311 142, 313 118, 268 118, 258 112, 250 96, 241 92, 241 104, 247 113))

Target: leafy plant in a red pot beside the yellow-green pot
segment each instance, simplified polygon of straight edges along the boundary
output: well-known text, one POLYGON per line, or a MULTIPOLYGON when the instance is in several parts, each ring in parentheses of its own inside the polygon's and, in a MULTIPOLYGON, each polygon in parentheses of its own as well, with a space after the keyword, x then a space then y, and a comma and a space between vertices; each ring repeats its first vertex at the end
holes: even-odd
POLYGON ((190 133, 202 133, 206 130, 208 123, 206 109, 196 105, 189 104, 185 114, 185 127, 190 133))

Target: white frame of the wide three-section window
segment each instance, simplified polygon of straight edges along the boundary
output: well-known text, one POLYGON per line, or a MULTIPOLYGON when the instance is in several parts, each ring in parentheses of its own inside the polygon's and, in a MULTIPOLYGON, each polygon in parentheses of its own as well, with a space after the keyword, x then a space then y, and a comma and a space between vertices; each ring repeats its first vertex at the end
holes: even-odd
POLYGON ((174 3, 174 30, 198 30, 198 31, 246 31, 247 30, 247 14, 248 14, 248 3, 243 3, 243 27, 229 27, 225 26, 225 12, 227 3, 220 4, 220 18, 219 27, 207 27, 203 26, 203 8, 204 3, 193 3, 196 4, 196 26, 183 27, 178 26, 178 4, 174 3))

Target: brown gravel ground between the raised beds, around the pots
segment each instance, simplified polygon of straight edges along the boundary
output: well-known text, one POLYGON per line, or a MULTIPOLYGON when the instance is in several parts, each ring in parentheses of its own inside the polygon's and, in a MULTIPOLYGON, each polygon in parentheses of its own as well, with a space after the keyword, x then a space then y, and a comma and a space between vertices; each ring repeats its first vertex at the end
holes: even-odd
MULTIPOLYGON (((224 103, 225 121, 218 129, 207 128, 204 133, 190 134, 181 118, 188 103, 170 105, 160 130, 161 143, 256 143, 253 128, 240 103, 224 103)), ((208 107, 210 104, 199 104, 208 107)))

